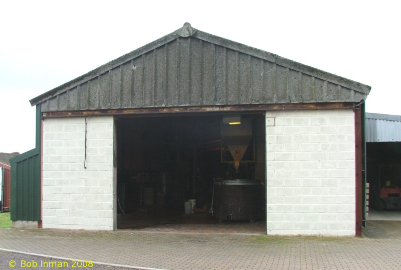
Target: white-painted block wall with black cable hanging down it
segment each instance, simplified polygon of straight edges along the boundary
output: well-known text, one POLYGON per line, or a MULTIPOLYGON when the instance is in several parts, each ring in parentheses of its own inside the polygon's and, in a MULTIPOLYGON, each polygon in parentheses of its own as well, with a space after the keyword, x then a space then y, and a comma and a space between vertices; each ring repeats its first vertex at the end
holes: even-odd
POLYGON ((113 116, 43 121, 44 228, 113 229, 113 116), (84 162, 86 169, 84 168, 84 162))

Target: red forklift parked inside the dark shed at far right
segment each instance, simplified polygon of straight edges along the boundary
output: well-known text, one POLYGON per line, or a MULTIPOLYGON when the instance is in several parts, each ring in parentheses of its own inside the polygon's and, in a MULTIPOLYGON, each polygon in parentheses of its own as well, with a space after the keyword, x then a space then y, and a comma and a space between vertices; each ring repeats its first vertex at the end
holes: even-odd
POLYGON ((401 166, 379 166, 379 201, 377 210, 401 209, 401 166))

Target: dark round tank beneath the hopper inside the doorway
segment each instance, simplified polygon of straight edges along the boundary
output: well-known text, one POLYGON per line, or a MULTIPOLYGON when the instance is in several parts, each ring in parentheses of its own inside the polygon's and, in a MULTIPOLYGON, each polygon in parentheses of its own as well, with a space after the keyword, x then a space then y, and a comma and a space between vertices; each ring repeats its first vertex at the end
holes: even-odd
POLYGON ((246 180, 217 180, 213 198, 218 220, 256 220, 261 218, 261 183, 246 180))

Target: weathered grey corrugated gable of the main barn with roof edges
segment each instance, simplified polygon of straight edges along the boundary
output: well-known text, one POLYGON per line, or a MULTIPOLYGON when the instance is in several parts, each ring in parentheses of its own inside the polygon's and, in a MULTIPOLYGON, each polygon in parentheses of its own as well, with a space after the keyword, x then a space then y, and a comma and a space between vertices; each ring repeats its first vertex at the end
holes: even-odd
POLYGON ((46 111, 359 102, 370 87, 193 29, 177 31, 33 98, 46 111))

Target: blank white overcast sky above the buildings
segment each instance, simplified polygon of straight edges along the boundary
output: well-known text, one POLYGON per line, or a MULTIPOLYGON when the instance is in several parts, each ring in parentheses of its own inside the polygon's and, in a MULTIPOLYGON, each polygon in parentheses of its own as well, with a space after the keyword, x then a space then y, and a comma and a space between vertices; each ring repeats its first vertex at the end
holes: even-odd
POLYGON ((0 1, 0 152, 35 147, 29 100, 181 28, 372 87, 366 111, 401 114, 397 1, 0 1))

